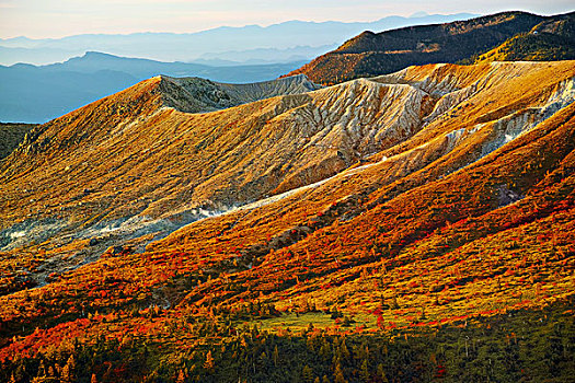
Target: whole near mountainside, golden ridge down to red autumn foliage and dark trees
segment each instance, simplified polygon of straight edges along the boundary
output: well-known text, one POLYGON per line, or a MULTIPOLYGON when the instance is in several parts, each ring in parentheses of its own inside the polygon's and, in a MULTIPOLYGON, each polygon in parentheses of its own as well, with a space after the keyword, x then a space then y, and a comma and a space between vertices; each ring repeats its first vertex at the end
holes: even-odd
POLYGON ((158 77, 34 129, 0 169, 0 380, 568 381, 574 79, 158 77))

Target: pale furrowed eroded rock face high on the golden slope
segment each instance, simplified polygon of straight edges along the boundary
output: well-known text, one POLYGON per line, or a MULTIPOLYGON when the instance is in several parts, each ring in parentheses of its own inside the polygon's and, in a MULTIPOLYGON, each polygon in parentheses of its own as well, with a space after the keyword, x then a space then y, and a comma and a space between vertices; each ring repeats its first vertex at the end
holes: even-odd
POLYGON ((304 108, 294 109, 283 120, 298 125, 309 137, 304 149, 344 149, 348 155, 360 156, 413 135, 426 106, 421 91, 369 80, 355 80, 310 96, 304 108))

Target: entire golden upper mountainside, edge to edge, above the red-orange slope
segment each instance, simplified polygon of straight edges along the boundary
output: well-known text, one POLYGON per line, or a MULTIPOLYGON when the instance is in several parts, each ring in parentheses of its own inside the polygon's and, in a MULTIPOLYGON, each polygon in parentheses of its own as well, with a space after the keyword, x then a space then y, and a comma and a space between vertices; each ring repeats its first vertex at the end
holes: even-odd
MULTIPOLYGON (((34 274, 42 281, 110 246, 142 251, 186 223, 292 195, 349 166, 379 170, 356 186, 370 198, 383 187, 389 196, 378 198, 392 198, 484 158, 571 104, 574 71, 572 61, 429 65, 307 93, 297 93, 303 78, 294 79, 295 90, 285 79, 279 91, 296 94, 204 114, 166 106, 174 95, 199 100, 183 96, 197 80, 154 78, 37 128, 7 159, 2 244, 26 264, 34 259, 34 274)), ((269 91, 240 86, 235 94, 245 97, 269 91)), ((20 272, 9 275, 24 286, 30 277, 20 272)))

